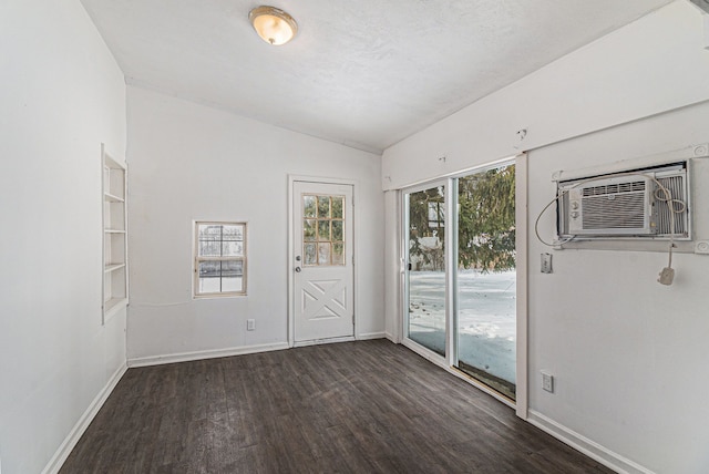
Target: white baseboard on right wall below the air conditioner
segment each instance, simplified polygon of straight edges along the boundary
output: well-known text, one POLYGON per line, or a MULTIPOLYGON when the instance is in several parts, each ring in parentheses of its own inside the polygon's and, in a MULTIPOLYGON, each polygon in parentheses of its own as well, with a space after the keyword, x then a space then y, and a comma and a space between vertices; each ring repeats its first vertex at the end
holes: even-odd
POLYGON ((598 461, 600 464, 621 474, 654 474, 653 471, 628 460, 605 446, 576 433, 573 430, 555 422, 540 412, 530 410, 527 422, 542 431, 547 432, 557 440, 568 444, 588 457, 598 461))

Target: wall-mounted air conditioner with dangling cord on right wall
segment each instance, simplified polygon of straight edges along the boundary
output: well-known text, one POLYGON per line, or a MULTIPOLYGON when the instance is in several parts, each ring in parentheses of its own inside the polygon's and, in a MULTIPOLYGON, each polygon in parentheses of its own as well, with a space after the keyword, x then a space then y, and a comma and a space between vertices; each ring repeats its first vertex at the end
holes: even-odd
POLYGON ((686 163, 558 182, 557 234, 689 239, 687 188, 686 163))

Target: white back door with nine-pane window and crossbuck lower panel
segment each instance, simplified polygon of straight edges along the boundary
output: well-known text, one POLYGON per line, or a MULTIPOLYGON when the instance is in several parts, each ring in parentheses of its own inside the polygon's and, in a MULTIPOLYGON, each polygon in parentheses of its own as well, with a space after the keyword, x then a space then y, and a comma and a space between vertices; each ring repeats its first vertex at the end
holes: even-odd
POLYGON ((354 336, 352 186, 294 182, 295 342, 354 336))

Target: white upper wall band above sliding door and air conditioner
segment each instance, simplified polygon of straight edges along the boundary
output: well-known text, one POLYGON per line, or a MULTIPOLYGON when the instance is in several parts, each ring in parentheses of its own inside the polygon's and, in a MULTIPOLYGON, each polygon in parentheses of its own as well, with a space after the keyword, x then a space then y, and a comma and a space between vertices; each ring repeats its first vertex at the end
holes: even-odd
POLYGON ((701 13, 677 0, 389 147, 382 187, 709 100, 703 41, 701 13))

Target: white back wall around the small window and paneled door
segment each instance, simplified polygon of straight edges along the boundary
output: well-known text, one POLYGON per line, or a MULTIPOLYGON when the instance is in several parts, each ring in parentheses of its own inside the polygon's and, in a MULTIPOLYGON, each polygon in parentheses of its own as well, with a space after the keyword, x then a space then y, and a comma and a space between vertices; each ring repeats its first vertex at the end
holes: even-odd
POLYGON ((132 363, 287 343, 289 174, 357 182, 357 332, 383 337, 378 155, 130 86, 129 161, 132 363), (248 221, 248 296, 192 298, 193 220, 248 221))

